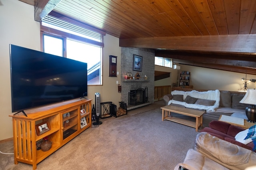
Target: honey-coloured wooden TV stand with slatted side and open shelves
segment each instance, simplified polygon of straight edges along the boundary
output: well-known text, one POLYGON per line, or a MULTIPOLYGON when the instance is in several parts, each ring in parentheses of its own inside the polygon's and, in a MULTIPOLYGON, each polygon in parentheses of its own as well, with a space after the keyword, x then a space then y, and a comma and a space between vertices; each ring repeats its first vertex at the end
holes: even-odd
POLYGON ((26 110, 28 117, 22 113, 9 115, 13 124, 14 164, 24 162, 36 169, 39 162, 91 127, 91 102, 88 99, 74 99, 26 110), (81 109, 85 109, 86 113, 81 115, 81 109), (81 128, 82 117, 85 117, 87 125, 81 128), (48 121, 50 130, 37 135, 36 125, 45 121, 48 121), (46 152, 37 150, 36 145, 44 137, 52 142, 52 147, 46 152))

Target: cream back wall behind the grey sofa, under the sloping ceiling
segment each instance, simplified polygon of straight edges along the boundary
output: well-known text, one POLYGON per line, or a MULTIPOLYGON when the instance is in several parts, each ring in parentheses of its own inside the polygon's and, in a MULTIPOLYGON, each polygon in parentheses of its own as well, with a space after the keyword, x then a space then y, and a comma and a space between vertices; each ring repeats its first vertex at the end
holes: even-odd
MULTIPOLYGON (((190 85, 194 89, 238 91, 244 87, 241 78, 245 78, 246 74, 183 64, 180 67, 180 70, 190 71, 190 85)), ((256 79, 256 76, 247 74, 247 79, 251 78, 256 79)), ((256 88, 256 83, 249 82, 248 88, 256 88)))

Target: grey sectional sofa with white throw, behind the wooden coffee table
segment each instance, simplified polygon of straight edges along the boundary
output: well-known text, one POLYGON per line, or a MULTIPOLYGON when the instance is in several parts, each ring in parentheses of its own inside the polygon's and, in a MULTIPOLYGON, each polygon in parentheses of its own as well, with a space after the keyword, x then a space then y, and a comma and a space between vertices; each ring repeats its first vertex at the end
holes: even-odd
POLYGON ((230 92, 220 90, 182 91, 174 90, 171 94, 165 95, 163 100, 166 105, 187 107, 192 109, 204 109, 204 119, 218 120, 220 115, 228 115, 247 119, 245 108, 249 104, 239 103, 245 92, 230 92))

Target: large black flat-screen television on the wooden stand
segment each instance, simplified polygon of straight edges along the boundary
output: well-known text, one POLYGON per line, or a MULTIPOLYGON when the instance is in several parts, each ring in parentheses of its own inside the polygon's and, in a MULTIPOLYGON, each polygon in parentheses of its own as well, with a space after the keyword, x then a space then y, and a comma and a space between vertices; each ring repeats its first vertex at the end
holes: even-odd
POLYGON ((87 63, 10 44, 12 112, 87 96, 87 63))

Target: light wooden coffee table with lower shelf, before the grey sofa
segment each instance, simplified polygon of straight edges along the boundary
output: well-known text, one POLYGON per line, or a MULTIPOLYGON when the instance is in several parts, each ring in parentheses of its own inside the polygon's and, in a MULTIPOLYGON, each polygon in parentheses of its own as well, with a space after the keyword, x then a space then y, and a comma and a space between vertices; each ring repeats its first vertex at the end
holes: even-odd
POLYGON ((164 119, 169 121, 174 121, 182 125, 194 127, 196 128, 196 131, 198 131, 198 128, 202 126, 203 114, 206 113, 206 111, 202 111, 202 110, 188 109, 188 108, 170 106, 170 105, 161 107, 161 109, 162 109, 162 121, 164 121, 164 119), (182 114, 190 117, 196 117, 196 122, 180 119, 178 117, 173 117, 171 113, 178 113, 178 114, 182 114))

